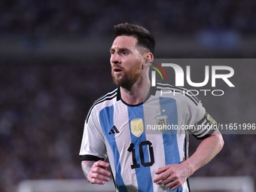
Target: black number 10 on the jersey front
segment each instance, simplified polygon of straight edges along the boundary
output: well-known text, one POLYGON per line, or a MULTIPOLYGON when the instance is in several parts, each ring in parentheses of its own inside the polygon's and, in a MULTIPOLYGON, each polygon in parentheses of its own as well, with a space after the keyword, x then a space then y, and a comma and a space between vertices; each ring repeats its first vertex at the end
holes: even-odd
MULTIPOLYGON (((139 144, 139 157, 141 159, 142 166, 152 166, 154 164, 154 151, 153 147, 151 147, 152 143, 149 141, 144 141, 139 144), (150 161, 145 162, 145 154, 143 152, 143 146, 148 145, 148 150, 149 150, 149 156, 150 156, 150 161)), ((132 169, 139 168, 140 165, 137 163, 136 160, 136 153, 138 152, 138 149, 134 148, 134 143, 130 144, 130 147, 127 149, 127 151, 132 152, 133 155, 133 165, 131 165, 132 169)))

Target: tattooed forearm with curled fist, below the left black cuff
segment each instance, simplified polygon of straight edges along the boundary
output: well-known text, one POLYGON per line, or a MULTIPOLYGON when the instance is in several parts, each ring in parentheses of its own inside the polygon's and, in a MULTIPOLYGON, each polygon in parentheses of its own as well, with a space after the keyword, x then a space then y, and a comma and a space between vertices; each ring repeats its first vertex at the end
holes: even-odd
POLYGON ((90 183, 93 184, 105 184, 105 181, 109 181, 111 173, 106 169, 109 166, 109 163, 105 163, 102 160, 93 161, 93 160, 83 160, 81 166, 84 172, 85 178, 87 178, 90 183))

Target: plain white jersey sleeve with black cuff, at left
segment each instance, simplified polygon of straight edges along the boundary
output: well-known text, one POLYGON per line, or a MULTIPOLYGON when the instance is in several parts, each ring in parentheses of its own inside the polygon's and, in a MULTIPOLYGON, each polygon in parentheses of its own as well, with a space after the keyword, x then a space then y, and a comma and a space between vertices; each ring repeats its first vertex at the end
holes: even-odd
POLYGON ((79 156, 80 160, 95 161, 105 160, 107 157, 105 139, 94 110, 84 123, 84 134, 79 156))

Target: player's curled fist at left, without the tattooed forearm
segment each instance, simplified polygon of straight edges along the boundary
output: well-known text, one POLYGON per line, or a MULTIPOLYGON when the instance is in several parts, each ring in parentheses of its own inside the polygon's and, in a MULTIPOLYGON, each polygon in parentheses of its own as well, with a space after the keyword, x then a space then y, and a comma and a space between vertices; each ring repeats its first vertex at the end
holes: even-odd
POLYGON ((88 181, 93 184, 105 184, 105 181, 109 181, 111 173, 106 169, 108 168, 109 163, 106 163, 102 160, 98 160, 93 163, 93 166, 90 168, 90 172, 87 175, 88 181))

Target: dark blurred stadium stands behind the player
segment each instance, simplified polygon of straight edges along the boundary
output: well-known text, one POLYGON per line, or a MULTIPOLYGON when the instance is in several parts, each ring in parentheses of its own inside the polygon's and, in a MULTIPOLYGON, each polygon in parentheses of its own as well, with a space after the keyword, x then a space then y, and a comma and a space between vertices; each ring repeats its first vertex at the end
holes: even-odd
MULTIPOLYGON (((84 178, 84 119, 114 88, 115 24, 149 29, 156 58, 255 58, 254 10, 252 0, 0 1, 0 192, 16 192, 26 180, 84 178)), ((241 68, 237 94, 203 101, 219 123, 256 123, 255 69, 241 68)), ((224 135, 224 142, 194 177, 255 181, 256 135, 224 135)), ((197 145, 191 138, 190 154, 197 145)))

